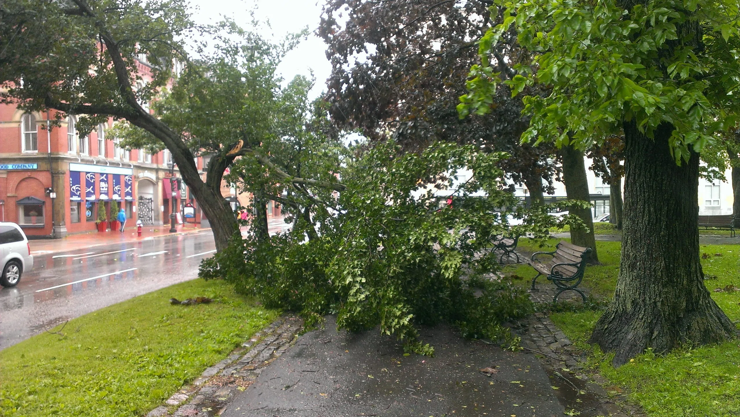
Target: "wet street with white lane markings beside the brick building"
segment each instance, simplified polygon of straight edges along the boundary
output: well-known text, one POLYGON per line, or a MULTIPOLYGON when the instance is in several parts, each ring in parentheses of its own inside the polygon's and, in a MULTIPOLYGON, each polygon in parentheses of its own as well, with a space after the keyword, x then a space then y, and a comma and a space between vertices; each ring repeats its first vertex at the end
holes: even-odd
POLYGON ((116 302, 194 279, 215 251, 210 231, 37 255, 14 288, 0 287, 0 350, 116 302))

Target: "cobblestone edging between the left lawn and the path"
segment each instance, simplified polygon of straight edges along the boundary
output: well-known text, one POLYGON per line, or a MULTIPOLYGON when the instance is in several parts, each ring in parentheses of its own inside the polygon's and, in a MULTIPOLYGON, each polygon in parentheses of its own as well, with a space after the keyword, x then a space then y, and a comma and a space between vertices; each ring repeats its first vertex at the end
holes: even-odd
POLYGON ((280 357, 296 339, 303 321, 281 316, 255 333, 223 361, 207 368, 192 384, 173 394, 147 417, 218 416, 238 391, 253 384, 263 368, 280 357))

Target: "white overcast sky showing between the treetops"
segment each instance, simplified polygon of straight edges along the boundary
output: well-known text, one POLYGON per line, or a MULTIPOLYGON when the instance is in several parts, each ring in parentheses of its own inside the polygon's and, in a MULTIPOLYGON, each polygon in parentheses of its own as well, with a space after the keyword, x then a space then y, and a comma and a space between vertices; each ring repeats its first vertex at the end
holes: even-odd
POLYGON ((312 90, 312 98, 317 97, 326 89, 326 78, 332 71, 329 61, 326 60, 326 44, 314 35, 319 25, 323 0, 191 0, 194 10, 193 18, 197 23, 215 23, 221 20, 220 16, 229 16, 245 28, 249 28, 252 21, 250 11, 255 10, 255 18, 260 21, 269 21, 272 33, 263 33, 266 38, 278 41, 287 33, 296 33, 304 27, 309 27, 309 38, 302 41, 295 50, 289 52, 278 71, 280 75, 290 81, 295 75, 311 76, 316 78, 312 90))

